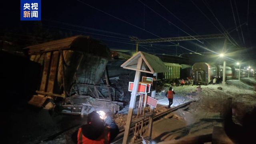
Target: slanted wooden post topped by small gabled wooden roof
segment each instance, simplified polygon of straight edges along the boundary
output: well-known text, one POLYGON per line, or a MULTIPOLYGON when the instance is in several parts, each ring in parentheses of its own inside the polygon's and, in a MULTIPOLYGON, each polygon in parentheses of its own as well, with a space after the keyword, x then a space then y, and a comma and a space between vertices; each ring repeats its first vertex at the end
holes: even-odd
MULTIPOLYGON (((140 73, 146 72, 146 73, 154 74, 154 73, 159 73, 159 72, 168 72, 168 68, 164 65, 164 63, 162 62, 162 60, 160 60, 160 58, 158 58, 157 56, 151 55, 151 54, 147 54, 145 52, 138 52, 137 54, 132 56, 129 60, 124 62, 121 65, 121 67, 130 69, 130 70, 136 70, 134 84, 133 84, 131 98, 130 98, 128 115, 127 115, 127 119, 126 119, 124 138, 123 138, 123 142, 122 142, 123 144, 127 144, 128 136, 129 136, 129 132, 130 132, 130 126, 132 123, 133 109, 134 109, 135 103, 136 103, 136 95, 137 95, 138 85, 139 85, 139 81, 140 81, 140 73)), ((155 92, 154 92, 154 94, 155 94, 155 92)), ((154 94, 152 94, 152 95, 154 95, 154 94)), ((151 126, 151 128, 150 128, 150 136, 151 136, 153 119, 150 118, 150 120, 151 121, 150 121, 149 125, 151 126)))

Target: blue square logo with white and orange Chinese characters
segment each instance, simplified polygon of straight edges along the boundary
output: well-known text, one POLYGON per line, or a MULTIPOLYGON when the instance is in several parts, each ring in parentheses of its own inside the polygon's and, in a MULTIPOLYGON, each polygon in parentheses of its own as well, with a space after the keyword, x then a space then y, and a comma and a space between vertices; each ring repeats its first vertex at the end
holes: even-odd
POLYGON ((41 20, 41 0, 20 0, 20 20, 41 20))

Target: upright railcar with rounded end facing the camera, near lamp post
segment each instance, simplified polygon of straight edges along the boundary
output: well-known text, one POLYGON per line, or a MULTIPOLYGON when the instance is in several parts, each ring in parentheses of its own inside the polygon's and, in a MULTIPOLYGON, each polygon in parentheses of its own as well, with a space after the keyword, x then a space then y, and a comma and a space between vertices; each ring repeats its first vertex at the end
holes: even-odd
POLYGON ((217 77, 217 67, 204 62, 192 66, 192 75, 195 84, 207 85, 212 78, 217 77))

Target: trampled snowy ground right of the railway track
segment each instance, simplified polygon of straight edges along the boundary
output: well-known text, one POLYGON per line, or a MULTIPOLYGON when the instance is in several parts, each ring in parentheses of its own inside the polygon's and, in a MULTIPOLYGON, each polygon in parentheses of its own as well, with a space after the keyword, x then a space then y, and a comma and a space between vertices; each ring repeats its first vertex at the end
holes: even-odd
POLYGON ((227 108, 227 99, 230 97, 232 108, 234 108, 233 114, 238 122, 241 122, 244 114, 250 113, 256 105, 256 92, 251 86, 256 83, 256 80, 244 78, 241 81, 228 80, 226 85, 201 86, 200 94, 194 93, 196 86, 174 87, 177 95, 174 95, 174 100, 180 96, 190 99, 198 96, 200 100, 190 104, 186 110, 179 109, 173 112, 171 118, 163 118, 155 122, 152 139, 155 142, 161 142, 211 134, 214 126, 222 126, 222 113, 227 108))

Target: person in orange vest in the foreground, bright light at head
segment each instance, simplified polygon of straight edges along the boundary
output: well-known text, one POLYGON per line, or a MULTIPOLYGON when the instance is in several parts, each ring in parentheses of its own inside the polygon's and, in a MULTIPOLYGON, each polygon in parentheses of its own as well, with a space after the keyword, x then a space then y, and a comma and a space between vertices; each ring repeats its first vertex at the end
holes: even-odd
POLYGON ((82 125, 78 131, 74 132, 72 139, 77 144, 110 144, 118 135, 119 129, 116 123, 103 114, 100 116, 97 112, 88 114, 87 124, 82 125))

